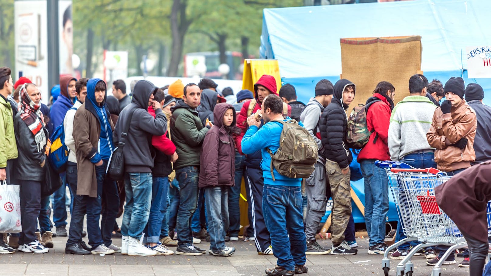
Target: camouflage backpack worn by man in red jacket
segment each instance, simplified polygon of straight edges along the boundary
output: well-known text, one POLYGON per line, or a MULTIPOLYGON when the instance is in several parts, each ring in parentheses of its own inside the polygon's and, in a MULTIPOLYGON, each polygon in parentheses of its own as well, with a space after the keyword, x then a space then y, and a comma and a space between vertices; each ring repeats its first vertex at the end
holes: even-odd
MULTIPOLYGON (((381 100, 373 100, 366 105, 359 104, 357 107, 351 111, 350 117, 348 118, 348 128, 346 131, 346 142, 350 148, 362 149, 368 140, 370 135, 375 130, 369 131, 367 126, 367 112, 368 108, 376 102, 381 100)), ((378 135, 374 139, 374 143, 377 141, 378 135)))

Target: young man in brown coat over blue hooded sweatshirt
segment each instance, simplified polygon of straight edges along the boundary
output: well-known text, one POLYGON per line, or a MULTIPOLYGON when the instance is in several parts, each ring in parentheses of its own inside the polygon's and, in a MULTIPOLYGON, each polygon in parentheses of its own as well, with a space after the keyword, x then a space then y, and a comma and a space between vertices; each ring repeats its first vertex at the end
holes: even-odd
MULTIPOLYGON (((100 79, 87 82, 87 97, 75 113, 73 138, 77 155, 76 196, 87 213, 87 232, 92 254, 112 254, 121 248, 112 244, 111 234, 119 210, 116 183, 106 178, 106 167, 114 150, 112 131, 114 125, 106 105, 106 83, 100 79), (102 214, 101 199, 107 203, 102 214)), ((74 191, 75 192, 75 191, 74 191)))

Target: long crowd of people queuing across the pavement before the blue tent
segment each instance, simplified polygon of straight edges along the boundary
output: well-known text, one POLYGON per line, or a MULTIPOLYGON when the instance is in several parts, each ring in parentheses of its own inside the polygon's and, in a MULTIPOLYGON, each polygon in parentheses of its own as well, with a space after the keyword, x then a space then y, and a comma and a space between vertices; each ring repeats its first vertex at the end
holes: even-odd
MULTIPOLYGON (((355 83, 321 80, 306 105, 297 101, 291 84, 277 92, 276 80, 269 75, 254 84, 254 91, 234 95, 228 87, 221 92, 217 87, 208 78, 186 85, 179 80, 162 88, 141 80, 132 83, 130 97, 124 81, 117 80, 109 96, 100 79, 62 76, 59 96, 48 108, 35 84, 26 78, 14 83, 10 69, 1 67, 0 180, 20 185, 23 230, 8 240, 4 237, 0 253, 13 253, 15 248, 45 253, 57 235, 68 236, 65 251, 73 254, 208 251, 230 256, 235 248, 225 243, 239 240, 244 179, 250 223, 244 240, 253 241, 258 254, 278 259, 266 274, 306 273, 306 254, 356 254, 350 185, 354 161, 346 139, 346 112, 356 95, 355 83), (317 144, 317 164, 305 181, 279 173, 272 163, 281 146, 282 122, 291 118, 317 144), (41 186, 49 166, 50 133, 59 126, 69 151, 60 173, 63 185, 52 196, 52 232, 50 196, 41 197, 41 186), (116 147, 124 155, 124 181, 107 176, 116 147), (332 246, 325 248, 316 234, 329 198, 332 246), (121 215, 119 227, 116 218, 121 215), (85 235, 88 245, 82 241, 85 235), (121 247, 114 245, 114 238, 121 238, 121 247), (196 246, 200 239, 210 242, 208 250, 196 246)), ((376 160, 437 167, 453 176, 491 157, 491 107, 482 103, 479 84, 465 88, 462 78, 450 78, 445 85, 429 83, 417 74, 409 79, 408 96, 397 105, 395 92, 391 83, 380 82, 367 99, 370 137, 357 152, 364 178, 368 254, 387 250, 389 184, 376 160)), ((396 240, 403 238, 399 225, 396 240)), ((404 258, 412 246, 414 242, 400 246, 391 258, 404 258)), ((435 265, 447 248, 427 248, 420 254, 429 259, 428 265, 435 265)), ((468 250, 461 254, 461 267, 482 261, 474 251, 470 259, 468 250)), ((455 263, 454 254, 444 262, 455 263)))

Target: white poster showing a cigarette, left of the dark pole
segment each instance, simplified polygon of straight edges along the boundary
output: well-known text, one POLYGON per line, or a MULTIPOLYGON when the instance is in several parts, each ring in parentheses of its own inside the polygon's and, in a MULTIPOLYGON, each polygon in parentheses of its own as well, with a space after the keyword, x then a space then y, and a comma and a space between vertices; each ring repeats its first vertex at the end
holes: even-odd
POLYGON ((12 79, 31 80, 41 91, 43 103, 49 101, 47 12, 45 0, 14 2, 16 72, 12 79))

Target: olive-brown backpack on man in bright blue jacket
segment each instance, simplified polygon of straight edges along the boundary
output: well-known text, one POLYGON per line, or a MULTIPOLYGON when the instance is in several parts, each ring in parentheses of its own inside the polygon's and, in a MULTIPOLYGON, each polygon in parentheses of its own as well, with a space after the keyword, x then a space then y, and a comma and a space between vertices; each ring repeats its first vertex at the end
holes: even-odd
POLYGON ((292 119, 274 120, 283 125, 278 150, 271 155, 271 176, 274 179, 273 166, 279 174, 290 178, 308 178, 314 172, 317 163, 317 143, 309 132, 292 119))

